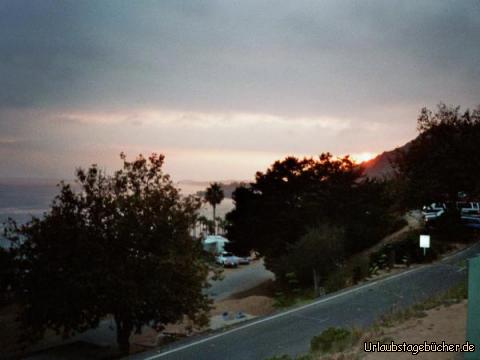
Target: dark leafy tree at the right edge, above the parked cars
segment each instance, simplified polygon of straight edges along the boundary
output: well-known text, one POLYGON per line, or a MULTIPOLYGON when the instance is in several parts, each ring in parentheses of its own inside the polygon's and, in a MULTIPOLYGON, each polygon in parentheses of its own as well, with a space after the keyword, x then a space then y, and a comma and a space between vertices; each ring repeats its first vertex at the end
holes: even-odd
POLYGON ((434 201, 455 201, 459 192, 480 190, 480 107, 439 104, 423 108, 418 117, 419 136, 399 153, 396 165, 408 207, 434 201))

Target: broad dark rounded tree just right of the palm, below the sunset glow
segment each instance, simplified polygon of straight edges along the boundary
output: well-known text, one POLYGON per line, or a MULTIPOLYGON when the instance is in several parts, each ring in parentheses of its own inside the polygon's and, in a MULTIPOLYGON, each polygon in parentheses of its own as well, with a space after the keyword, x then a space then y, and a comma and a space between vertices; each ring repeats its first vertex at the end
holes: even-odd
POLYGON ((346 255, 380 240, 389 221, 387 195, 383 183, 364 180, 348 157, 287 157, 234 192, 235 209, 227 214, 230 249, 260 252, 281 280, 288 268, 283 261, 310 228, 343 228, 346 255))

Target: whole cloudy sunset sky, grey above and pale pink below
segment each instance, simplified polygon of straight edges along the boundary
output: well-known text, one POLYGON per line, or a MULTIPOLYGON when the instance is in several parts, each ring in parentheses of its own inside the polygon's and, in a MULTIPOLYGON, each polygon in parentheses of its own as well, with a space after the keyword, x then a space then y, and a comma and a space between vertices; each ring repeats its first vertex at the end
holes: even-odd
POLYGON ((363 159, 480 103, 480 1, 0 1, 0 177, 162 153, 176 180, 363 159))

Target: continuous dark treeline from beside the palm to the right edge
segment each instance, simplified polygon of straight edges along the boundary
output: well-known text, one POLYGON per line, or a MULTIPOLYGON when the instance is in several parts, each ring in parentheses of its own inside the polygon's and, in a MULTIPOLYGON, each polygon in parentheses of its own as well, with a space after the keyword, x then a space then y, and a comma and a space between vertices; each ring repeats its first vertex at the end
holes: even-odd
POLYGON ((395 154, 389 179, 369 179, 348 157, 328 153, 288 157, 258 172, 233 194, 231 250, 254 249, 280 282, 293 273, 309 285, 312 269, 324 281, 345 259, 398 229, 405 210, 454 202, 459 192, 478 195, 480 111, 460 113, 444 104, 436 112, 422 109, 418 130, 418 138, 395 154))

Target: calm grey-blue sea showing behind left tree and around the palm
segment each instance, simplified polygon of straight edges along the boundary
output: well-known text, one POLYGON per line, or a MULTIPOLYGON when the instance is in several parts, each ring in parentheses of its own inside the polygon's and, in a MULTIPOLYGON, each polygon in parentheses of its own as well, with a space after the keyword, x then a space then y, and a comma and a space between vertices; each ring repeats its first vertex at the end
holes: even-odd
MULTIPOLYGON (((195 194, 204 190, 199 185, 178 185, 184 194, 195 194)), ((32 216, 41 217, 46 212, 59 189, 54 184, 1 184, 0 183, 0 246, 8 246, 8 240, 3 238, 3 223, 12 218, 18 223, 26 223, 32 216)), ((217 206, 217 216, 225 216, 233 209, 231 199, 225 199, 217 206)), ((211 206, 205 204, 200 213, 207 218, 212 217, 211 206)))

